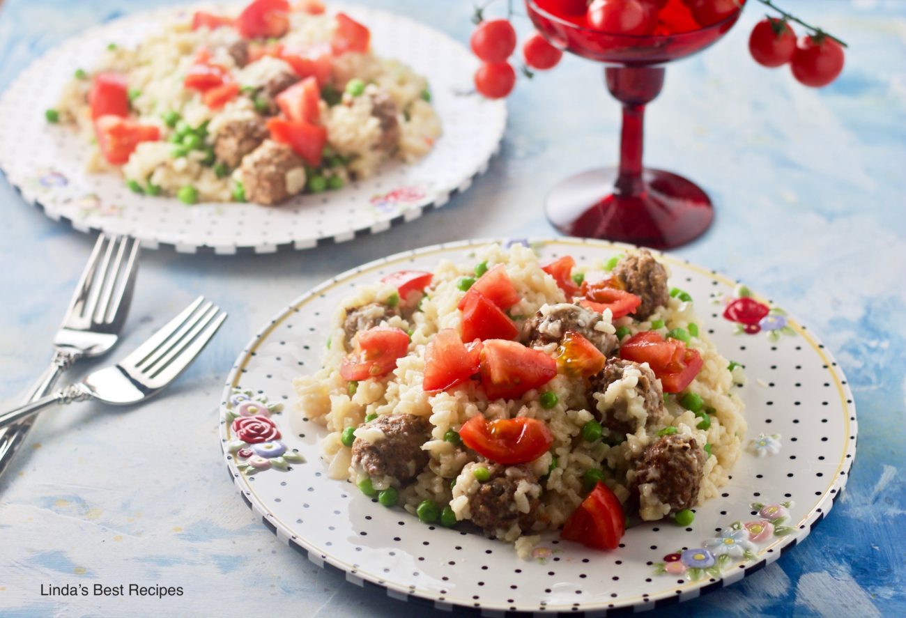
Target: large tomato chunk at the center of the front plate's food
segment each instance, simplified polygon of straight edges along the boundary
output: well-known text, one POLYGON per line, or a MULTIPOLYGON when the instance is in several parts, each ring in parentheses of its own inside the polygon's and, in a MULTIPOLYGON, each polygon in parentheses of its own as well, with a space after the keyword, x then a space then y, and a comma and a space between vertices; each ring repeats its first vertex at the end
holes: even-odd
POLYGON ((488 399, 517 399, 556 374, 553 358, 522 343, 492 339, 481 351, 481 381, 488 399))

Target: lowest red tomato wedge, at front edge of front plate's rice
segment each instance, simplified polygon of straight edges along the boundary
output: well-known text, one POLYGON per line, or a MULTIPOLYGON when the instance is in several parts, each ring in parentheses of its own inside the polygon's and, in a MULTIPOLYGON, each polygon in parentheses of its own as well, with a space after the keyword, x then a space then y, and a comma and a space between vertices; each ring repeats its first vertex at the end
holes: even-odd
POLYGON ((560 537, 593 549, 616 549, 626 532, 619 498, 601 481, 573 511, 560 537))

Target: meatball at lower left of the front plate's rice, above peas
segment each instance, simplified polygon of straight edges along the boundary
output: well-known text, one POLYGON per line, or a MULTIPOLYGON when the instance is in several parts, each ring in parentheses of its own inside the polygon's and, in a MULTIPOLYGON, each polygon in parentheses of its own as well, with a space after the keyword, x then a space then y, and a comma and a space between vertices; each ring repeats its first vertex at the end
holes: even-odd
POLYGON ((369 477, 392 477, 403 483, 418 476, 428 464, 428 452, 421 449, 431 437, 426 417, 385 414, 362 427, 383 433, 383 438, 373 442, 361 438, 352 442, 352 465, 369 477))

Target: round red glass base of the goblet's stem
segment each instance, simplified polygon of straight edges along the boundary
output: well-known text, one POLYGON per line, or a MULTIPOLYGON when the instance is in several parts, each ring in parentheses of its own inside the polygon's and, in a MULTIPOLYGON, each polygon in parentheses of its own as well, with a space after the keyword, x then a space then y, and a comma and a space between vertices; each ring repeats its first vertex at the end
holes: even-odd
POLYGON ((687 179, 644 169, 643 187, 632 195, 615 194, 616 179, 614 168, 565 179, 547 196, 547 218, 569 236, 656 249, 685 245, 711 225, 714 209, 708 194, 687 179))

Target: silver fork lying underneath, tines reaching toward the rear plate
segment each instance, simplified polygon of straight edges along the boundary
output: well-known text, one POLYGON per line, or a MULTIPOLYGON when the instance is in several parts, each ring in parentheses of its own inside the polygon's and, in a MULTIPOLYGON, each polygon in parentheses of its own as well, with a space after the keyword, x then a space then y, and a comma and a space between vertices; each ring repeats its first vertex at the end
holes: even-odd
MULTIPOLYGON (((126 321, 139 266, 139 241, 101 234, 82 271, 60 330, 53 337, 53 360, 24 401, 46 395, 73 362, 108 352, 126 321)), ((0 429, 0 475, 25 441, 34 420, 0 429)))

